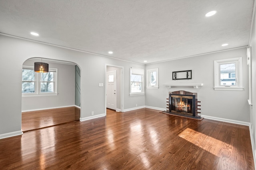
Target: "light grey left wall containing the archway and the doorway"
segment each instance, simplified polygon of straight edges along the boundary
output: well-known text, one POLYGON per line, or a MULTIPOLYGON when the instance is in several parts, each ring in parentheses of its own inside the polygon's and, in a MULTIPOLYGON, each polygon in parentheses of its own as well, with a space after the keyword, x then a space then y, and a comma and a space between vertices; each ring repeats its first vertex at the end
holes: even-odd
POLYGON ((135 104, 145 106, 145 96, 129 96, 130 67, 144 68, 143 64, 136 64, 103 57, 90 53, 83 53, 70 49, 54 47, 42 43, 35 43, 0 35, 0 139, 11 135, 20 135, 21 132, 21 81, 22 64, 27 59, 42 57, 70 61, 76 63, 81 69, 81 118, 106 113, 105 82, 106 63, 124 67, 124 109, 133 108, 135 104))

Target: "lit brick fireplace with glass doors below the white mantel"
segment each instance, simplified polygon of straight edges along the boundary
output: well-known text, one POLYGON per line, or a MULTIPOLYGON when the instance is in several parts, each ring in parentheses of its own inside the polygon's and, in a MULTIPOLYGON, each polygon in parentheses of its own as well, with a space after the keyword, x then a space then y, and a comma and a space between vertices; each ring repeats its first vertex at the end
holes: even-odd
POLYGON ((200 117, 198 113, 198 103, 200 101, 197 100, 197 93, 186 92, 184 90, 169 92, 169 98, 167 98, 167 102, 169 103, 167 107, 169 112, 184 114, 194 117, 200 117))

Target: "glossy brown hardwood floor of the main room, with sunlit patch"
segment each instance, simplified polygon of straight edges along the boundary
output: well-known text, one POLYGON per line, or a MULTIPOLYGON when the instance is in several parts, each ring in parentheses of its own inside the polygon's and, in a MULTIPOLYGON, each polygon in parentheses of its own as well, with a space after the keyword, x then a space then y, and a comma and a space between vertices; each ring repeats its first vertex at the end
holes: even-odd
POLYGON ((153 109, 0 140, 0 169, 254 170, 249 128, 153 109))

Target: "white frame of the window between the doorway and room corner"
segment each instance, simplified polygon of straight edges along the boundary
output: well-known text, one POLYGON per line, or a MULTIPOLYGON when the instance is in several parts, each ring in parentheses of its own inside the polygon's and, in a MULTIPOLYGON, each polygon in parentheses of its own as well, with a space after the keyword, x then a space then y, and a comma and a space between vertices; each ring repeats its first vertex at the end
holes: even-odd
POLYGON ((144 74, 145 71, 143 68, 134 68, 134 67, 130 67, 130 96, 135 96, 135 95, 144 95, 145 94, 145 90, 144 90, 144 74), (141 86, 141 92, 136 92, 136 93, 132 93, 132 74, 137 74, 137 75, 141 75, 142 76, 142 86, 141 86))

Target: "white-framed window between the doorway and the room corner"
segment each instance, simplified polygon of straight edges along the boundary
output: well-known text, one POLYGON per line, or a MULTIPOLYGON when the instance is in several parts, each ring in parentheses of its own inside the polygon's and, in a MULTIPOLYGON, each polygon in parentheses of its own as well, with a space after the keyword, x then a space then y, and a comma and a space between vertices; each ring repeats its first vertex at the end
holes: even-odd
POLYGON ((144 94, 144 69, 130 68, 130 95, 144 94))

